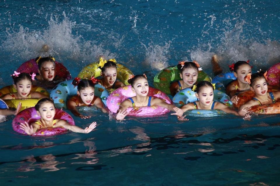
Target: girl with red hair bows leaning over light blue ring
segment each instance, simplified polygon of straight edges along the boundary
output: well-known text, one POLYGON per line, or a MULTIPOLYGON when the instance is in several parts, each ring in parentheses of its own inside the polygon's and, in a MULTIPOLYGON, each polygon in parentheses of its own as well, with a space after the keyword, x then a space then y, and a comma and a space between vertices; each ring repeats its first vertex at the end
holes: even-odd
POLYGON ((71 97, 67 101, 67 108, 71 110, 71 112, 75 116, 79 116, 82 119, 90 118, 90 116, 84 116, 81 115, 76 107, 79 106, 97 106, 102 110, 102 112, 107 112, 107 110, 104 108, 104 105, 101 101, 101 99, 97 96, 94 96, 94 85, 96 85, 98 82, 97 79, 94 77, 91 78, 90 80, 88 79, 80 79, 80 78, 75 78, 73 81, 73 85, 77 86, 78 85, 78 91, 77 91, 77 96, 71 97))

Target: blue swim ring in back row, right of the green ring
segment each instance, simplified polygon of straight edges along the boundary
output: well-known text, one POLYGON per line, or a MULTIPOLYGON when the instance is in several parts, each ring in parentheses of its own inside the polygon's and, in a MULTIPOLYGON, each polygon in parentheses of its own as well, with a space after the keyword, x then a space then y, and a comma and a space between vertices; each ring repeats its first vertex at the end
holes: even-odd
POLYGON ((212 80, 212 83, 215 83, 215 87, 217 90, 225 92, 225 86, 232 80, 236 80, 233 72, 224 72, 215 76, 212 80))

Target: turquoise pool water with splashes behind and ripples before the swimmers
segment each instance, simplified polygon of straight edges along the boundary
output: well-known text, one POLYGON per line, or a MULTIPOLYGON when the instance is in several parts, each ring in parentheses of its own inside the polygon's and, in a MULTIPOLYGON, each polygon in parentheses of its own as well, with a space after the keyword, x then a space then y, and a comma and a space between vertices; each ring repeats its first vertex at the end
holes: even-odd
MULTIPOLYGON (((135 74, 155 74, 178 60, 197 60, 213 77, 211 56, 223 69, 251 60, 267 69, 280 59, 278 1, 0 1, 0 85, 41 53, 76 76, 100 55, 135 74)), ((88 108, 87 108, 88 109, 88 108)), ((1 185, 279 185, 279 117, 233 115, 128 117, 95 108, 74 117, 92 133, 19 135, 12 118, 0 123, 1 185)))

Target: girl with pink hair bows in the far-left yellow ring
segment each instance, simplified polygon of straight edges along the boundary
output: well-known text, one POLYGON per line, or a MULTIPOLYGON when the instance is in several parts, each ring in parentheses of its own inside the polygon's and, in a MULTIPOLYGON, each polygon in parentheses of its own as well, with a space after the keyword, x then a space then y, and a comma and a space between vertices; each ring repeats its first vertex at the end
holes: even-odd
POLYGON ((47 96, 39 92, 30 92, 32 81, 34 81, 34 73, 30 75, 27 73, 19 73, 14 71, 14 74, 11 76, 13 76, 13 85, 17 92, 6 94, 2 97, 2 99, 47 98, 47 96))

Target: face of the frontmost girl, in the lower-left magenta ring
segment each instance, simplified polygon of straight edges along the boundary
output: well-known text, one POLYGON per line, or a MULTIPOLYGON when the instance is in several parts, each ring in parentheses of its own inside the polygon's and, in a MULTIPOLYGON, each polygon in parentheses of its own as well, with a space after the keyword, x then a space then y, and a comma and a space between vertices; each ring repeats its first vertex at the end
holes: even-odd
POLYGON ((41 116, 42 120, 52 121, 55 117, 55 105, 50 102, 45 102, 40 106, 37 114, 41 116))

